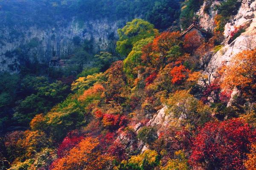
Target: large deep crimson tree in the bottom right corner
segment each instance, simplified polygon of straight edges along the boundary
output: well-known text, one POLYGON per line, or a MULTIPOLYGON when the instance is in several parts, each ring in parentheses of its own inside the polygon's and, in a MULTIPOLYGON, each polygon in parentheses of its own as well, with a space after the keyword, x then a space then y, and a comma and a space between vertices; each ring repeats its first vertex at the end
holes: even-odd
POLYGON ((207 170, 244 170, 245 153, 256 141, 253 130, 243 119, 209 122, 194 139, 189 162, 207 170))

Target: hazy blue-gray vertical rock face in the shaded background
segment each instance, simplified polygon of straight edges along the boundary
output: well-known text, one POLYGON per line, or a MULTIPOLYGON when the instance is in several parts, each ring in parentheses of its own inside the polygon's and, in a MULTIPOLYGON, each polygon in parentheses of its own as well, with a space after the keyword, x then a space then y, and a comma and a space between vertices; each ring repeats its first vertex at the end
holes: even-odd
POLYGON ((18 72, 20 61, 26 59, 47 63, 54 56, 69 56, 75 48, 73 37, 76 36, 90 40, 94 52, 113 50, 117 29, 126 21, 102 19, 81 23, 73 20, 59 27, 0 29, 0 71, 18 72))

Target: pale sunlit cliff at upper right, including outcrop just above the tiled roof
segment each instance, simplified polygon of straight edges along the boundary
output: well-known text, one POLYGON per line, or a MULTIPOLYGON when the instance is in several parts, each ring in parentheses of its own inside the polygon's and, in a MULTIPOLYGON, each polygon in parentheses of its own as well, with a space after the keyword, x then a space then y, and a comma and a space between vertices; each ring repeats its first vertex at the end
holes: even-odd
MULTIPOLYGON (((212 3, 212 6, 218 4, 218 1, 212 3)), ((214 28, 214 16, 215 12, 212 14, 204 14, 203 9, 205 8, 205 3, 198 11, 200 18, 200 25, 205 29, 213 30, 214 28)), ((256 47, 256 1, 255 0, 243 0, 241 7, 239 8, 236 16, 232 17, 225 25, 224 30, 224 41, 222 42, 223 47, 216 54, 212 56, 210 62, 214 62, 216 69, 221 67, 224 63, 228 63, 230 59, 237 53, 253 49, 256 47), (236 39, 232 39, 231 34, 235 30, 243 29, 244 32, 241 33, 236 39)))

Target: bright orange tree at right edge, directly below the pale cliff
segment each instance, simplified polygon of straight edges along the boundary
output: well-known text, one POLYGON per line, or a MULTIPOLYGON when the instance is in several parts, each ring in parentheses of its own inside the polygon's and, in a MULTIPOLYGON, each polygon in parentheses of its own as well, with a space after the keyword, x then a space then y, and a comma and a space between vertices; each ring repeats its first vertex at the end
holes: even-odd
POLYGON ((256 49, 242 51, 231 60, 231 65, 221 70, 221 88, 238 88, 245 96, 256 95, 256 49))

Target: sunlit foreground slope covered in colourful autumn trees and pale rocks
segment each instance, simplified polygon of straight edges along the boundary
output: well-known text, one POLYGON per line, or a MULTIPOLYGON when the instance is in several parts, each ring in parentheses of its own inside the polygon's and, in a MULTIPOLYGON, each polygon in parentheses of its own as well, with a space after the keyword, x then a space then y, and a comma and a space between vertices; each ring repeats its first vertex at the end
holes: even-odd
MULTIPOLYGON (((100 53, 100 64, 113 61, 109 68, 84 69, 66 99, 34 116, 27 130, 6 133, 2 167, 255 168, 256 1, 198 5, 182 4, 181 23, 192 24, 183 34, 161 32, 142 19, 126 23, 116 42, 126 58, 100 53)), ((55 87, 39 92, 56 97, 55 87)), ((19 116, 31 117, 26 111, 19 116)))

